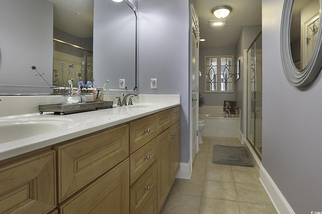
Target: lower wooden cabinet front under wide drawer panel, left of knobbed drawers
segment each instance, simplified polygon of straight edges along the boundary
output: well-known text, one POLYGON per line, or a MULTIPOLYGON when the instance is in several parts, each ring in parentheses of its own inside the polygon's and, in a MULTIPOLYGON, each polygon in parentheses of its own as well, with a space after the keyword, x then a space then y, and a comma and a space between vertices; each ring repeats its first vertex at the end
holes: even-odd
POLYGON ((59 213, 128 214, 129 159, 58 204, 59 213))

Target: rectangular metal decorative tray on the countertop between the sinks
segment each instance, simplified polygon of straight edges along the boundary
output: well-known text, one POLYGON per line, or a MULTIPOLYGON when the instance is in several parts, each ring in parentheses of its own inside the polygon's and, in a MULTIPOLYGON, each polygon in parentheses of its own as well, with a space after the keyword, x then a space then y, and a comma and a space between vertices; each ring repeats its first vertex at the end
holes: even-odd
POLYGON ((112 108, 113 101, 103 102, 88 102, 88 103, 76 103, 76 104, 46 104, 39 105, 39 114, 43 112, 53 111, 54 114, 64 115, 66 113, 76 113, 84 111, 92 111, 97 109, 112 108))

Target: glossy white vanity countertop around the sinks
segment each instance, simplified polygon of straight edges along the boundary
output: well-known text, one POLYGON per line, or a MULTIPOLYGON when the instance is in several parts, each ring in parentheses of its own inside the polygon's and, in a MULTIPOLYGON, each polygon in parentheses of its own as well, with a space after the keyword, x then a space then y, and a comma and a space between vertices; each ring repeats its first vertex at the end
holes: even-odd
MULTIPOLYGON (((146 101, 147 99, 142 99, 146 101)), ((153 99, 152 99, 153 100, 153 99)), ((40 149, 46 146, 69 140, 75 137, 86 135, 95 131, 109 128, 121 123, 125 123, 140 117, 144 117, 162 110, 166 110, 180 105, 179 100, 168 100, 165 102, 140 102, 133 103, 132 106, 122 106, 111 109, 100 109, 95 111, 73 113, 67 115, 54 115, 53 112, 32 113, 26 115, 0 117, 1 120, 57 120, 60 118, 68 124, 45 133, 35 136, 0 143, 0 160, 14 157, 29 151, 40 149)), ((164 100, 163 100, 164 101, 164 100)), ((1 136, 0 136, 1 137, 1 136)), ((90 142, 89 142, 90 143, 90 142)))

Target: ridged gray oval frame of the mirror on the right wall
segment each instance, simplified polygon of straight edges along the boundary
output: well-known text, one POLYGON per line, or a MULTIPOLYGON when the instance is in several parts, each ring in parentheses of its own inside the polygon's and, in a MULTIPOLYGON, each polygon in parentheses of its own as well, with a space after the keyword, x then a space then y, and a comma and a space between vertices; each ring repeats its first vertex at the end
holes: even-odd
MULTIPOLYGON (((321 0, 319 0, 319 3, 321 8, 321 0)), ((298 70, 293 63, 290 46, 290 27, 293 4, 294 0, 284 1, 281 19, 281 59, 284 74, 288 82, 294 87, 301 88, 312 83, 322 68, 322 32, 320 30, 318 31, 316 46, 307 66, 302 70, 298 70)), ((321 9, 319 10, 319 19, 321 19, 321 9)), ((319 23, 319 29, 321 29, 321 27, 322 22, 319 23)))

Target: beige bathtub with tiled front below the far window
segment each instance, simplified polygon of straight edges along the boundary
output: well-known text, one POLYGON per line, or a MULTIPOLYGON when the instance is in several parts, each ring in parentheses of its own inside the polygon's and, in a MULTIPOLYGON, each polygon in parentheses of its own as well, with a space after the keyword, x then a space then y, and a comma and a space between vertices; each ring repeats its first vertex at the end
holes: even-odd
POLYGON ((206 125, 201 131, 201 136, 211 137, 238 137, 240 118, 228 118, 225 112, 200 112, 199 120, 204 120, 206 125), (226 114, 227 118, 224 118, 226 114))

